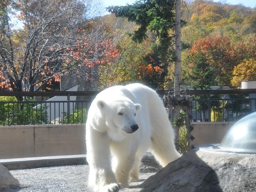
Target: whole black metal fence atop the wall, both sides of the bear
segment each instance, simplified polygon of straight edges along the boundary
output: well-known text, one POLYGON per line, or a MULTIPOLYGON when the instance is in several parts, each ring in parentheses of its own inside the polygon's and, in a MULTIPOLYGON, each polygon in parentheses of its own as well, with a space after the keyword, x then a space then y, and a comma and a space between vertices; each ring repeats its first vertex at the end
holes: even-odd
MULTIPOLYGON (((97 93, 0 92, 0 125, 84 123, 97 93)), ((237 121, 256 111, 256 89, 191 90, 182 94, 191 96, 192 121, 237 121)))

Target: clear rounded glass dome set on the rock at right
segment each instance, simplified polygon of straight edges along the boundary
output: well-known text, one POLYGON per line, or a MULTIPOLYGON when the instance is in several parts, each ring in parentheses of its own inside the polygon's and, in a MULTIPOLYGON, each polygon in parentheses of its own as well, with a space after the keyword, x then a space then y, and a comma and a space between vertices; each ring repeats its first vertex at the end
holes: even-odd
POLYGON ((233 124, 220 146, 222 150, 233 152, 256 152, 256 112, 245 116, 233 124))

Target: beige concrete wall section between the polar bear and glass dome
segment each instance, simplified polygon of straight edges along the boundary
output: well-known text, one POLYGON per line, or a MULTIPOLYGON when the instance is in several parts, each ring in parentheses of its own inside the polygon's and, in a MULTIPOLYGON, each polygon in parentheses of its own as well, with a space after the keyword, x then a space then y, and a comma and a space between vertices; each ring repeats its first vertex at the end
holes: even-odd
POLYGON ((220 143, 234 122, 192 122, 193 145, 220 143))

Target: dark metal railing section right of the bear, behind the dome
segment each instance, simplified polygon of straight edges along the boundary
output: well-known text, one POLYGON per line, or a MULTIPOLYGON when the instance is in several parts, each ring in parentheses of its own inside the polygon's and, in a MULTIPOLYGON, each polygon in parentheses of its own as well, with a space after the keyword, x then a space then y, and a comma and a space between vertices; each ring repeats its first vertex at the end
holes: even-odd
POLYGON ((187 91, 192 121, 237 121, 256 111, 256 89, 187 91))

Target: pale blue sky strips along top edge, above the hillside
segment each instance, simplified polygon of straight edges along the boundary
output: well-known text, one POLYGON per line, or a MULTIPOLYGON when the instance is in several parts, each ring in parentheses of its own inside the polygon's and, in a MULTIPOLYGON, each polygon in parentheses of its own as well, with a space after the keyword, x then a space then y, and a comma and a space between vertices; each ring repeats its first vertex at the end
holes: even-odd
MULTIPOLYGON (((112 5, 126 5, 133 4, 136 0, 102 0, 104 3, 104 7, 112 6, 112 5)), ((214 0, 214 2, 226 2, 227 4, 237 5, 243 4, 246 7, 254 8, 256 6, 255 0, 214 0)))

